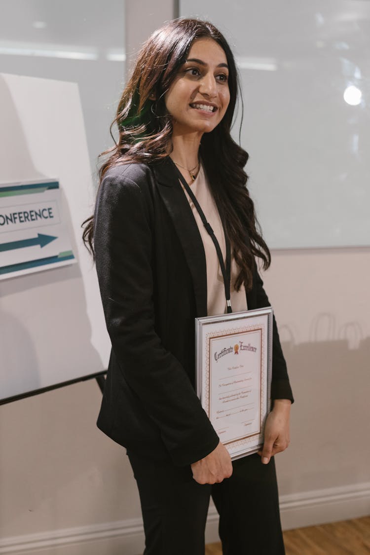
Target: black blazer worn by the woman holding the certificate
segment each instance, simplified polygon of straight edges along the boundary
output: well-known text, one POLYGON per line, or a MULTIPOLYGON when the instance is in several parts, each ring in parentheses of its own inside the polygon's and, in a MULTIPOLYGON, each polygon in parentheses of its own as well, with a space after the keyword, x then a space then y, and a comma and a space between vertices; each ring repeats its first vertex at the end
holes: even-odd
MULTIPOLYGON (((194 319, 207 315, 205 253, 170 158, 109 169, 95 208, 94 245, 112 350, 98 427, 175 465, 219 438, 194 390, 194 319)), ((249 309, 269 306, 256 269, 249 309)), ((273 325, 272 398, 290 398, 273 325)))

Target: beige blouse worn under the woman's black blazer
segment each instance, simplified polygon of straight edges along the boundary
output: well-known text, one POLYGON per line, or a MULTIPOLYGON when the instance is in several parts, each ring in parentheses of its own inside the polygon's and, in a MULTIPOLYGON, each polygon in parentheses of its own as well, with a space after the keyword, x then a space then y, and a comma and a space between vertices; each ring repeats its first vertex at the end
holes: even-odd
MULTIPOLYGON (((181 184, 184 189, 184 186, 181 184)), ((190 184, 191 190, 195 195, 196 200, 199 202, 201 209, 204 211, 207 221, 211 224, 212 229, 216 235, 217 241, 220 243, 224 263, 226 264, 226 245, 225 234, 222 228, 222 223, 217 210, 216 203, 211 194, 209 184, 207 183, 206 176, 202 166, 195 181, 190 184)), ((203 241, 204 251, 206 255, 206 268, 207 268, 207 315, 215 316, 218 314, 226 313, 226 299, 224 278, 222 278, 221 267, 215 245, 207 233, 200 215, 195 208, 194 203, 184 189, 187 200, 190 203, 192 213, 194 214, 195 221, 199 228, 199 232, 203 241)), ((233 312, 240 312, 247 310, 247 299, 245 294, 245 287, 242 285, 239 291, 235 291, 234 284, 239 273, 238 266, 231 255, 231 308, 233 312)))

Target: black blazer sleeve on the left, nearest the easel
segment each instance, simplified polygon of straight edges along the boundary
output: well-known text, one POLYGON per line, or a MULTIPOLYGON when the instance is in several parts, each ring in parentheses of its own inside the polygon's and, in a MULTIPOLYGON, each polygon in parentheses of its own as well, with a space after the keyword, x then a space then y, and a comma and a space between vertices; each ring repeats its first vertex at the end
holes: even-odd
POLYGON ((125 381, 159 426, 175 465, 188 465, 213 451, 219 437, 183 366, 155 332, 149 178, 133 180, 134 172, 129 178, 122 168, 105 176, 95 208, 95 260, 105 321, 125 381))

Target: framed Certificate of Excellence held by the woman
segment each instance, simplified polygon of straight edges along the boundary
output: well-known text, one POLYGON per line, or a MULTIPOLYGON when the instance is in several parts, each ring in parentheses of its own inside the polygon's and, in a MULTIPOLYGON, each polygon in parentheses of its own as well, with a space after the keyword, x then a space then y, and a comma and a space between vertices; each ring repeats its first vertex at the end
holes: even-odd
POLYGON ((263 445, 270 411, 272 308, 195 320, 197 395, 232 460, 263 445))

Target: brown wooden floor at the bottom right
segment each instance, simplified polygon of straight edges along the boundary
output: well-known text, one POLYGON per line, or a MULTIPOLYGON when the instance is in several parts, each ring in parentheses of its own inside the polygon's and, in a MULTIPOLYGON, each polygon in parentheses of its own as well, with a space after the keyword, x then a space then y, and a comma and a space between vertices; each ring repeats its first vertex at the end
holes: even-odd
MULTIPOLYGON (((284 532, 286 555, 370 555, 370 516, 284 532)), ((206 555, 222 555, 209 543, 206 555)))

